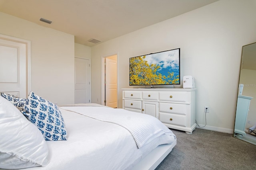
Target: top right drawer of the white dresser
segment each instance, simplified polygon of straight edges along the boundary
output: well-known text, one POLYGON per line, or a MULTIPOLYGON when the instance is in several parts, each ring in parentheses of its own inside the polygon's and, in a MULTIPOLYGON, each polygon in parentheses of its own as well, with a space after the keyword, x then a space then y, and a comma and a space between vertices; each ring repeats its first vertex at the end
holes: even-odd
POLYGON ((159 92, 159 100, 186 102, 187 92, 159 92))

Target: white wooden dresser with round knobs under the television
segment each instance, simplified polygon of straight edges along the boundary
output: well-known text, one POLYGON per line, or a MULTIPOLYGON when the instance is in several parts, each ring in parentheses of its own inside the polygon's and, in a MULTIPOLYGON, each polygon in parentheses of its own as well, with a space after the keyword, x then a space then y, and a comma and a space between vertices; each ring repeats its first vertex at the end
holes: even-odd
POLYGON ((123 109, 152 115, 172 129, 196 128, 196 89, 124 88, 123 109))

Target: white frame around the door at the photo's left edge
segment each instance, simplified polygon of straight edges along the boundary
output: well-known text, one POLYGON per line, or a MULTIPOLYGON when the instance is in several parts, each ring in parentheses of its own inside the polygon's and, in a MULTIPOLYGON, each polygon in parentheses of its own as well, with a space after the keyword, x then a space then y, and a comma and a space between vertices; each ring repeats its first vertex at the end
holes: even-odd
POLYGON ((26 45, 26 96, 31 90, 31 41, 0 34, 0 39, 14 41, 26 45))

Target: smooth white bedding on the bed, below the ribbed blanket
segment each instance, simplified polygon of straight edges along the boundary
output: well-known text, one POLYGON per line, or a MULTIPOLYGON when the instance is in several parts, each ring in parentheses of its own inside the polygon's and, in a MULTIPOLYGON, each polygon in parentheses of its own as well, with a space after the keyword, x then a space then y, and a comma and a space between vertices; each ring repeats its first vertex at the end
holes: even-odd
POLYGON ((131 169, 158 145, 175 141, 174 136, 161 135, 138 149, 131 133, 120 125, 61 108, 60 111, 66 124, 67 141, 47 141, 50 163, 28 170, 131 169))

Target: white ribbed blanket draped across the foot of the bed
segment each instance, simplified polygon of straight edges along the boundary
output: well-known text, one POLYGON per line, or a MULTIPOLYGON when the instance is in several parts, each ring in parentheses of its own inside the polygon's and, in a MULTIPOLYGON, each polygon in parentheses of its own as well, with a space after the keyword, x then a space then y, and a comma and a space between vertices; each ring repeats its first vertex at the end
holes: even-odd
POLYGON ((138 148, 163 134, 175 137, 170 129, 150 115, 136 112, 131 114, 131 111, 110 107, 86 107, 84 109, 84 106, 76 106, 61 108, 100 121, 115 123, 126 128, 132 134, 138 148))

